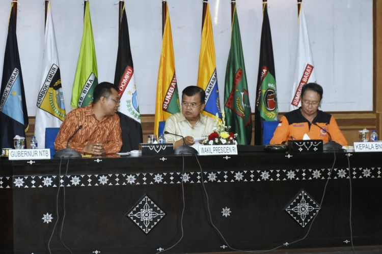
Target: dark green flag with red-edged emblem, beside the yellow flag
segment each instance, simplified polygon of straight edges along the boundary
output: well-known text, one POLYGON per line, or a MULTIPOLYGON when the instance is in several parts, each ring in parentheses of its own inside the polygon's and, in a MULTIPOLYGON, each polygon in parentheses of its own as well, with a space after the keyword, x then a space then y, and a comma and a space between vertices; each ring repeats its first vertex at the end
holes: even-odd
POLYGON ((232 133, 237 133, 237 143, 251 144, 251 105, 236 5, 233 11, 231 49, 227 61, 224 101, 226 124, 231 126, 232 133))

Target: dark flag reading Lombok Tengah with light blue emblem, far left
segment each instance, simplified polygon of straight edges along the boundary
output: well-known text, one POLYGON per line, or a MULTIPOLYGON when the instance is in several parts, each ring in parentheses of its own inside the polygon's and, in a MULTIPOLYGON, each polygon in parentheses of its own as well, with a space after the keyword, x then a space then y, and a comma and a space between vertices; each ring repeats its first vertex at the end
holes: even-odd
POLYGON ((13 148, 13 138, 25 137, 29 126, 16 37, 16 8, 17 2, 12 2, 0 89, 1 148, 13 148))

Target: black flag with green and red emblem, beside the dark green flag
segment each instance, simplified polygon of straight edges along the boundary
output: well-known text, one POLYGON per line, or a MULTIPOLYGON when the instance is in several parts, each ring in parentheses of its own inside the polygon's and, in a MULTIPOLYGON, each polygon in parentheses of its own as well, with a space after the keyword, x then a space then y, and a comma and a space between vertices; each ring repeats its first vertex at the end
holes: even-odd
POLYGON ((263 25, 261 28, 259 72, 255 103, 255 145, 261 145, 261 121, 278 119, 275 61, 266 2, 263 2, 263 25))

